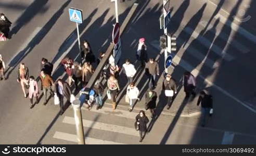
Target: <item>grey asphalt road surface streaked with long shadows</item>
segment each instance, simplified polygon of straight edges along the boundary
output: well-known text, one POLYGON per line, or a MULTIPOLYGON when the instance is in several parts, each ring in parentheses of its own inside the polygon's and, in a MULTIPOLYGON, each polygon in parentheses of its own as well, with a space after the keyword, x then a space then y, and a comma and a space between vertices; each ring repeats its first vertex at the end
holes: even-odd
MULTIPOLYGON (((133 2, 135 1, 120 3, 120 22, 124 20, 133 2)), ((148 54, 159 57, 162 72, 163 54, 160 54, 157 46, 159 36, 163 33, 158 21, 162 3, 137 2, 139 6, 136 16, 122 36, 121 62, 127 57, 135 61, 138 39, 146 37, 148 54)), ((142 144, 255 144, 256 127, 253 119, 256 117, 256 105, 253 102, 256 90, 252 86, 255 86, 256 75, 253 68, 255 63, 251 59, 255 56, 252 52, 255 48, 255 33, 250 29, 254 19, 238 22, 233 18, 248 4, 251 7, 247 9, 246 15, 250 13, 253 16, 253 3, 206 0, 171 3, 172 20, 168 31, 177 36, 178 51, 172 54, 174 67, 169 72, 176 81, 181 79, 185 70, 197 75, 197 91, 207 88, 213 95, 214 114, 208 119, 206 127, 200 127, 197 97, 193 101, 184 101, 182 87, 171 109, 167 110, 160 89, 163 77, 160 76, 157 78, 156 88, 160 95, 157 101, 158 116, 150 120, 148 126, 151 131, 142 144), (204 29, 205 27, 207 28, 204 29), (193 115, 188 115, 191 110, 198 113, 193 114, 192 111, 193 115)), ((54 79, 67 79, 63 68, 58 64, 66 55, 76 58, 79 54, 75 23, 68 19, 68 8, 83 9, 81 38, 89 40, 97 56, 110 44, 114 23, 113 3, 28 1, 21 4, 18 1, 1 1, 0 7, 16 23, 13 25, 15 29, 12 30, 14 35, 11 40, 0 44, 1 53, 10 67, 7 71, 9 79, 0 83, 1 144, 76 144, 72 107, 59 116, 59 107, 50 99, 46 106, 43 106, 41 100, 39 105, 29 109, 29 99, 22 97, 20 85, 16 83, 16 65, 21 61, 25 62, 30 74, 38 75, 40 60, 45 57, 54 63, 54 79), (14 5, 10 5, 16 3, 16 9, 14 5)), ((138 71, 136 85, 142 91, 140 96, 143 96, 147 90, 147 81, 143 70, 138 71)), ((120 83, 122 87, 126 85, 124 75, 121 75, 120 83)), ((136 103, 133 112, 129 112, 124 95, 124 92, 119 95, 120 102, 116 111, 111 110, 108 100, 101 110, 96 110, 95 107, 91 111, 82 108, 86 144, 139 143, 134 119, 139 110, 144 109, 144 99, 136 103)), ((148 111, 146 114, 150 116, 148 111)))

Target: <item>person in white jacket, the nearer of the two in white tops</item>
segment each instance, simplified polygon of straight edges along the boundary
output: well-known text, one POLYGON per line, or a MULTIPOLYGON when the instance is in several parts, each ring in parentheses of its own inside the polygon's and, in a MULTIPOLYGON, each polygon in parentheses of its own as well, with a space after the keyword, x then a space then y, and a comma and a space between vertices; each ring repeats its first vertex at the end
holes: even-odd
POLYGON ((127 87, 126 94, 129 97, 129 101, 130 101, 129 111, 131 112, 133 110, 135 101, 138 99, 138 95, 139 95, 139 90, 136 86, 134 86, 133 82, 130 83, 130 85, 127 87))

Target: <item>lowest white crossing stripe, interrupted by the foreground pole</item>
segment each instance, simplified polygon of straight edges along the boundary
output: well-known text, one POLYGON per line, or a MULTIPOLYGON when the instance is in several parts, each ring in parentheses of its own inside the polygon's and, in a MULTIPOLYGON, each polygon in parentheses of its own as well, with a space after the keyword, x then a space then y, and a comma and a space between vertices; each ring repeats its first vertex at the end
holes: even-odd
MULTIPOLYGON (((66 140, 66 141, 78 142, 78 139, 76 138, 76 135, 74 135, 74 134, 56 131, 53 137, 56 139, 61 139, 61 140, 66 140)), ((85 137, 85 144, 89 144, 89 145, 90 144, 91 145, 124 145, 120 142, 95 139, 95 138, 91 138, 91 137, 85 137)))

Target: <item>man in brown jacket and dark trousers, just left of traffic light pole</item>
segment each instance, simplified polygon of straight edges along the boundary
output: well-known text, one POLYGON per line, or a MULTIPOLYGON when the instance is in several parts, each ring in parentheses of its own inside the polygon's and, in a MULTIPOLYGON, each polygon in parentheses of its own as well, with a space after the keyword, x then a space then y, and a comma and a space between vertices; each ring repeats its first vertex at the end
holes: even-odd
POLYGON ((150 58, 145 67, 149 79, 149 89, 155 88, 156 74, 159 75, 159 65, 155 59, 150 58))

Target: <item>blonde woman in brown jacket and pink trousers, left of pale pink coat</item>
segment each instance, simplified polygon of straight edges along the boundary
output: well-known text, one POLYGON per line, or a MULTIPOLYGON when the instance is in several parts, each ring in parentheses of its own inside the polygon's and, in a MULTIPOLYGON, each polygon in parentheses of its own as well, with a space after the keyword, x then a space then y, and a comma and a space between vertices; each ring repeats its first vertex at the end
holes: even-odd
POLYGON ((21 63, 18 68, 17 82, 20 83, 24 97, 27 98, 27 93, 25 91, 25 86, 28 85, 29 79, 29 69, 25 67, 25 63, 21 63))

